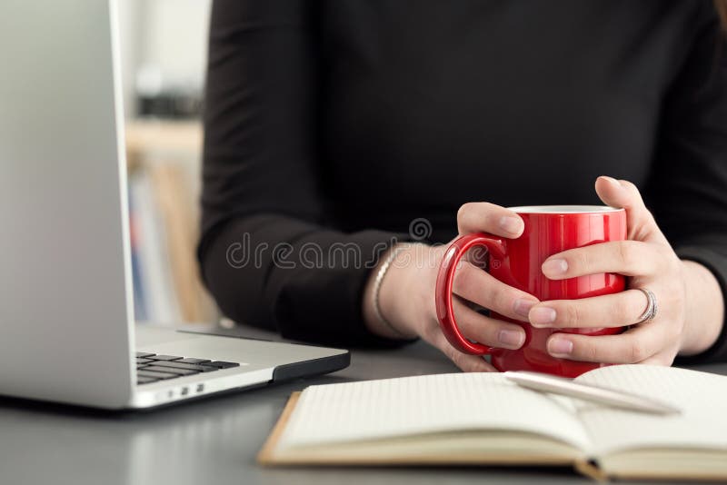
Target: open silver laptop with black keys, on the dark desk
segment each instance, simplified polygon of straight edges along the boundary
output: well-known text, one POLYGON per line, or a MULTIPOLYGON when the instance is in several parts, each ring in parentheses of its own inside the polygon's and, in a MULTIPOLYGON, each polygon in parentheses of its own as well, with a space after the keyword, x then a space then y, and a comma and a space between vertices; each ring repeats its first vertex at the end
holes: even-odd
POLYGON ((144 409, 348 351, 134 325, 115 0, 0 3, 0 394, 144 409))

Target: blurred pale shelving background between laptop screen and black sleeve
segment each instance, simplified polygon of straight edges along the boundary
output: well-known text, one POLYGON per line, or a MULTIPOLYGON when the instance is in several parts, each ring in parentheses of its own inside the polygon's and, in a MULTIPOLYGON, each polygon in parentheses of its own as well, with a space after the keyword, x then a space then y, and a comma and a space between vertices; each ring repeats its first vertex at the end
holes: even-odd
POLYGON ((194 258, 210 4, 119 2, 134 309, 140 321, 219 319, 194 258))

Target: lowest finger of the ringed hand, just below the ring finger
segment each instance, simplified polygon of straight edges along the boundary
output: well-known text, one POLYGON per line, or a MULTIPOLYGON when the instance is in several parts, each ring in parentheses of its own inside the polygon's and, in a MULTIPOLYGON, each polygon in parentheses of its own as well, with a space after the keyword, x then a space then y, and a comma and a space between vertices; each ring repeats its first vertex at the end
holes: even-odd
POLYGON ((620 335, 578 335, 553 333, 547 349, 553 357, 572 361, 636 363, 649 359, 669 346, 670 332, 647 323, 620 335))

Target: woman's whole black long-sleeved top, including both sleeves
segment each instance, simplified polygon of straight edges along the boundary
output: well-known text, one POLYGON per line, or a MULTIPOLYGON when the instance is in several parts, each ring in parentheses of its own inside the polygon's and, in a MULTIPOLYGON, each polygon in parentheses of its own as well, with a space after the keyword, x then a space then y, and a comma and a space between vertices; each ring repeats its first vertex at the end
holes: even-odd
MULTIPOLYGON (((712 9, 215 0, 204 281, 235 321, 386 344, 364 326, 365 262, 410 223, 445 243, 462 203, 599 203, 593 182, 608 174, 639 186, 675 251, 724 294, 727 51, 712 9), (340 257, 352 247, 359 257, 340 257)), ((727 359, 724 332, 700 358, 727 359)))

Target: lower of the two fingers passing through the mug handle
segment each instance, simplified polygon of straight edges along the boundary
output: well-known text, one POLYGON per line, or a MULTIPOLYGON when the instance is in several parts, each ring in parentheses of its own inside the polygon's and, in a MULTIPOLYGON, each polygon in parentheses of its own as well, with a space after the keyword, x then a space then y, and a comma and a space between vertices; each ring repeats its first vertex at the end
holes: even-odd
POLYGON ((453 300, 453 308, 457 326, 469 340, 488 347, 512 350, 520 349, 523 346, 525 331, 520 325, 486 317, 475 312, 459 299, 453 300))

